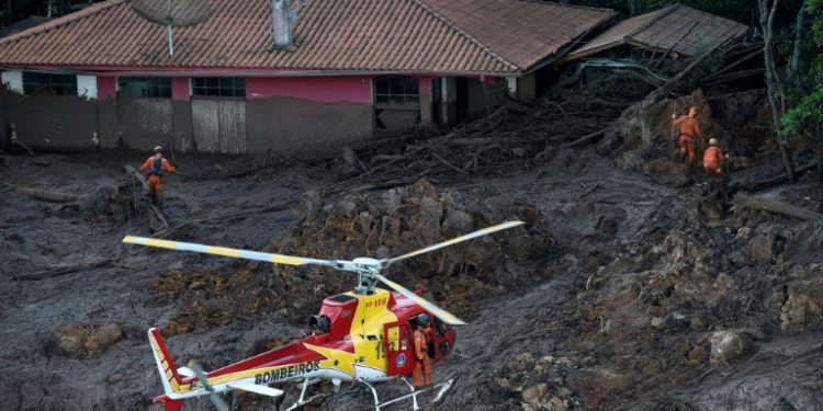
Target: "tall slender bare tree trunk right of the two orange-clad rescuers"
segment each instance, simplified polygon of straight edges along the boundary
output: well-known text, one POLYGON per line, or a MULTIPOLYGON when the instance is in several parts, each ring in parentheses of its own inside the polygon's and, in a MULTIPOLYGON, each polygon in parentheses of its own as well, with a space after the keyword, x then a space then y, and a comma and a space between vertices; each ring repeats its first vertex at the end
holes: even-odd
POLYGON ((757 0, 757 9, 760 12, 760 27, 763 28, 763 56, 766 65, 766 89, 768 90, 769 104, 771 104, 771 118, 775 123, 777 145, 783 158, 786 174, 790 182, 794 182, 794 161, 791 158, 791 149, 786 140, 781 128, 780 118, 786 112, 786 89, 777 72, 774 50, 774 25, 777 15, 777 5, 780 0, 757 0))

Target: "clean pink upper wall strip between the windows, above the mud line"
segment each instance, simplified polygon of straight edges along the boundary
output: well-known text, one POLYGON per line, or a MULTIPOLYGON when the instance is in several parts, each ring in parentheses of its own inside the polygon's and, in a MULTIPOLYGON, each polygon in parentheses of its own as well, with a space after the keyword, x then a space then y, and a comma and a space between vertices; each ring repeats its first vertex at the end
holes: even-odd
POLYGON ((273 96, 295 98, 322 103, 371 104, 372 78, 369 76, 246 78, 246 100, 261 100, 273 96))

